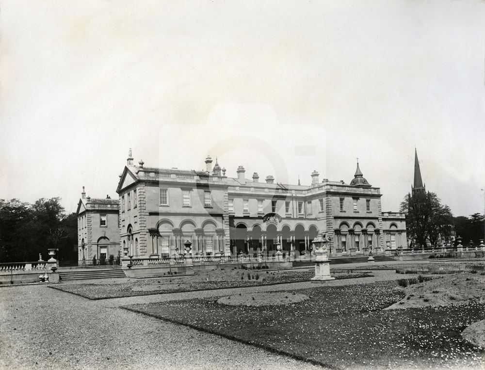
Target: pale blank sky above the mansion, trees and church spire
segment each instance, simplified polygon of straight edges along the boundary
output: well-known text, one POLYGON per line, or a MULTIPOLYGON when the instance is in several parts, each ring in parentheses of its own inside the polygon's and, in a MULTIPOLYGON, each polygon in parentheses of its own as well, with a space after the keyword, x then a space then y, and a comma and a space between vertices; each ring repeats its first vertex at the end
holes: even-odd
POLYGON ((116 197, 145 166, 484 212, 485 1, 2 1, 0 198, 116 197))

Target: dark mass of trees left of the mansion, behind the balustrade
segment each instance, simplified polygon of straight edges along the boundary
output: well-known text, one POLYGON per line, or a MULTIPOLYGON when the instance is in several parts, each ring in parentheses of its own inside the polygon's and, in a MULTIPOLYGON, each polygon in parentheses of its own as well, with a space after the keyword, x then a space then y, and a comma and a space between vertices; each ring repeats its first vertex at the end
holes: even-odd
POLYGON ((59 249, 61 261, 77 260, 76 213, 66 215, 61 198, 41 198, 33 204, 0 199, 0 262, 48 259, 49 248, 59 249))

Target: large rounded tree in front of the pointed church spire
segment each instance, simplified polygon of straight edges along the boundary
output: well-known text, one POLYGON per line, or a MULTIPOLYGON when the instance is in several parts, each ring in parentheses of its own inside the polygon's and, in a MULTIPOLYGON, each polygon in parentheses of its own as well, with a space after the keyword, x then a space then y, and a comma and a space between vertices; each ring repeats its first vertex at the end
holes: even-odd
POLYGON ((406 232, 418 245, 437 245, 438 239, 448 239, 452 232, 453 215, 442 205, 435 193, 407 194, 401 203, 406 214, 406 232))

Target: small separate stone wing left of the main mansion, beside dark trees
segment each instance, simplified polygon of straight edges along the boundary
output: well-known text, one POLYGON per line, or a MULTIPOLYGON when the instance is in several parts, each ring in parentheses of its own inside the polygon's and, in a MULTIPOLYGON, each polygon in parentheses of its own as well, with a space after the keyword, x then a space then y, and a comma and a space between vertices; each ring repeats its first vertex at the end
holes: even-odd
POLYGON ((104 255, 106 260, 119 255, 119 204, 109 197, 86 197, 82 187, 76 211, 78 216, 78 263, 93 263, 104 255))

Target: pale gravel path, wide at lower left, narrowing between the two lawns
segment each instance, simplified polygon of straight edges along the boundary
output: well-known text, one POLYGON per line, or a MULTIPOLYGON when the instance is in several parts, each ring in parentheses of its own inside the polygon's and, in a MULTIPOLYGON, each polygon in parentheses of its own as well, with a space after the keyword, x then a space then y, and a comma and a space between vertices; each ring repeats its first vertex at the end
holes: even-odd
MULTIPOLYGON (((332 280, 348 285, 396 274, 332 280)), ((0 289, 0 369, 318 369, 305 362, 119 308, 239 292, 318 287, 310 282, 90 301, 47 286, 0 289)))

